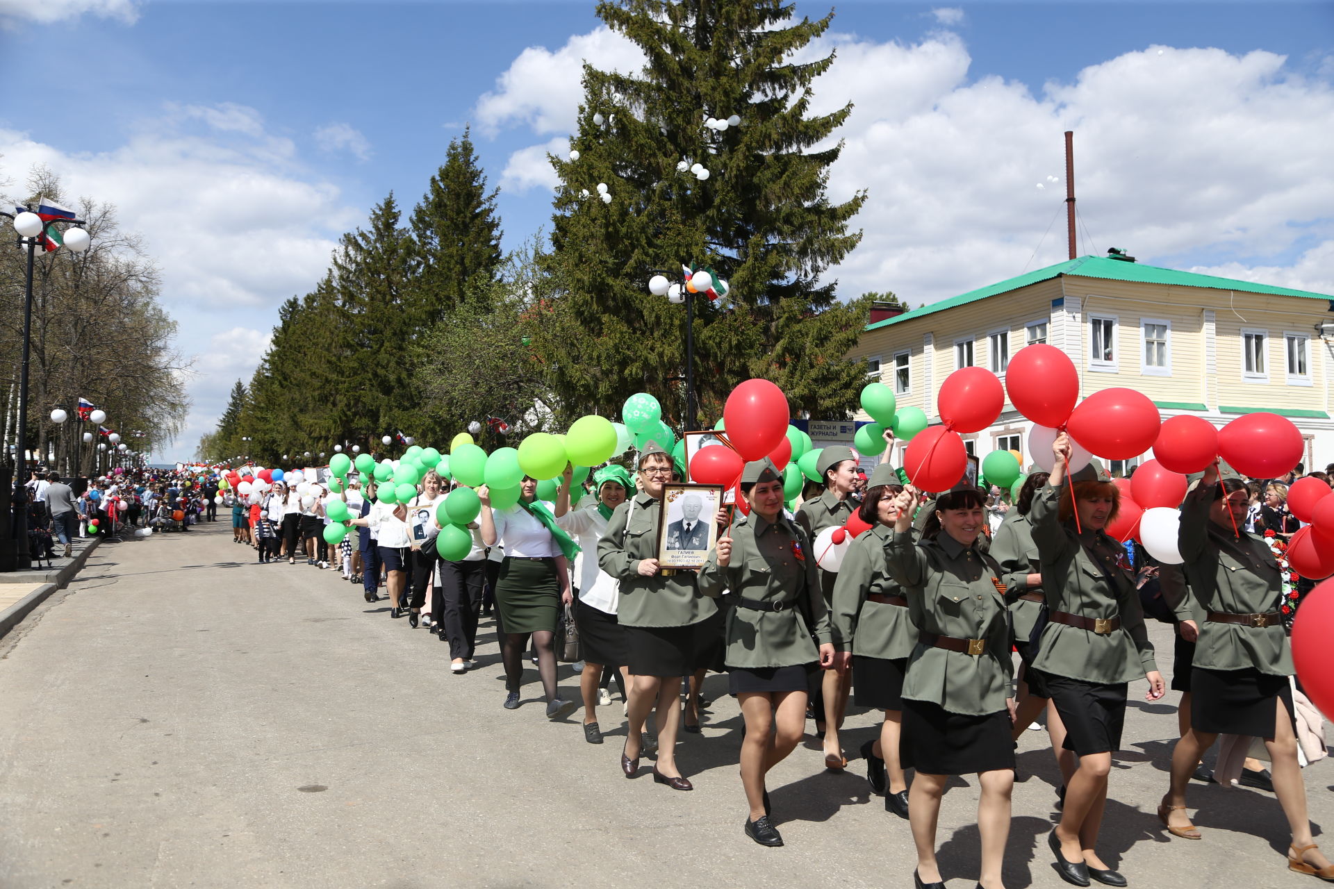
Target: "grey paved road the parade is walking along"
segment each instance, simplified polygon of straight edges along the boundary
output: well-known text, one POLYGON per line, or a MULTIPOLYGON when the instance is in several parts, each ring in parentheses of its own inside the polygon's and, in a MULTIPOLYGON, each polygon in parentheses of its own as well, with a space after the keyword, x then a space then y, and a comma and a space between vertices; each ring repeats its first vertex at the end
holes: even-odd
MULTIPOLYGON (((1165 672, 1170 634, 1154 626, 1165 672)), ((907 822, 870 796, 859 758, 814 741, 771 776, 787 845, 742 834, 740 717, 726 677, 678 762, 691 793, 627 781, 619 701, 607 742, 578 712, 548 722, 535 670, 504 710, 494 624, 480 668, 390 620, 359 586, 304 564, 256 565, 224 522, 108 541, 0 640, 0 888, 60 886, 911 886, 907 822)), ((562 666, 567 697, 578 694, 562 666)), ((1175 714, 1133 684, 1099 850, 1133 886, 1311 886, 1283 860, 1271 794, 1193 784, 1202 841, 1154 814, 1175 714)), ((1169 700, 1175 700, 1175 693, 1169 700)), ((876 716, 854 712, 854 756, 876 716)), ((1057 888, 1046 833, 1055 765, 1025 734, 1006 885, 1057 888)), ((1306 770, 1319 837, 1329 761, 1306 770)), ((975 781, 940 816, 948 885, 976 882, 975 781)), ((1330 841, 1334 852, 1334 841, 1330 841)))

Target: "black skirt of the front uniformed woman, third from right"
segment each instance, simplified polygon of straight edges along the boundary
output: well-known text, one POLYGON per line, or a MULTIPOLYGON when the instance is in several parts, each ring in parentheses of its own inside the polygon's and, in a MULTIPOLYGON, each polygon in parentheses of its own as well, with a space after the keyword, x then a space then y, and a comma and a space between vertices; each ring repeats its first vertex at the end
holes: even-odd
POLYGON ((903 700, 899 762, 927 774, 979 774, 1014 768, 1010 713, 967 716, 903 700))

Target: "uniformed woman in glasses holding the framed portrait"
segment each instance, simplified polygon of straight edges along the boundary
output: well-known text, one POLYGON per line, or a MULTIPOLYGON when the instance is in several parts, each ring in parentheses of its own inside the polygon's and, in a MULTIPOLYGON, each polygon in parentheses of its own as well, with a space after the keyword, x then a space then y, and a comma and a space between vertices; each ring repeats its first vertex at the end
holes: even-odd
POLYGON ((598 566, 620 581, 616 622, 630 653, 630 728, 620 752, 620 770, 627 778, 638 774, 640 732, 648 712, 656 706, 654 781, 674 790, 692 790, 675 757, 680 681, 706 666, 700 661, 711 640, 704 638, 700 624, 718 612, 718 605, 699 592, 695 572, 658 566, 662 496, 671 472, 671 456, 656 443, 647 443, 639 454, 642 489, 607 520, 607 532, 598 541, 598 566))

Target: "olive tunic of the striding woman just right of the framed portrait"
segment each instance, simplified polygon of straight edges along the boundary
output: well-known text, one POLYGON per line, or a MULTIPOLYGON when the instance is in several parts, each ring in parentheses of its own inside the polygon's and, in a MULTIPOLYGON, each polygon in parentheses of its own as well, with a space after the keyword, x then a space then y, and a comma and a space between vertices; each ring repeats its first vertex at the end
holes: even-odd
POLYGON ((768 522, 752 512, 732 524, 731 537, 727 566, 719 568, 718 550, 711 550, 699 569, 699 588, 708 596, 730 590, 743 598, 783 602, 783 609, 731 609, 723 658, 727 666, 758 669, 818 661, 819 650, 802 612, 810 614, 820 645, 830 641, 830 620, 806 532, 782 513, 768 522))

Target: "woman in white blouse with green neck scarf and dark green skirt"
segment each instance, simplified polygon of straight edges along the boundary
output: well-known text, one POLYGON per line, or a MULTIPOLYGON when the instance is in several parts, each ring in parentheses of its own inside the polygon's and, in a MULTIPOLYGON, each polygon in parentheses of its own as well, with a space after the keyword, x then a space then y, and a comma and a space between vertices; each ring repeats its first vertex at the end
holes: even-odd
MULTIPOLYGON (((528 476, 519 485, 519 502, 508 509, 491 509, 491 492, 478 488, 482 513, 482 540, 488 546, 504 544, 504 561, 496 582, 496 609, 504 628, 502 658, 506 673, 507 710, 519 708, 519 685, 523 682, 523 652, 528 637, 538 649, 538 674, 547 693, 547 717, 559 718, 575 708, 556 690, 556 605, 574 601, 570 592, 570 562, 556 534, 566 536, 546 505, 538 502, 538 482, 528 476)), ((574 552, 578 546, 570 542, 574 552)))

